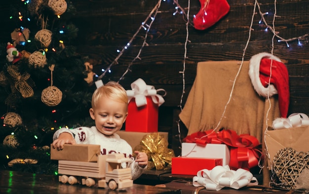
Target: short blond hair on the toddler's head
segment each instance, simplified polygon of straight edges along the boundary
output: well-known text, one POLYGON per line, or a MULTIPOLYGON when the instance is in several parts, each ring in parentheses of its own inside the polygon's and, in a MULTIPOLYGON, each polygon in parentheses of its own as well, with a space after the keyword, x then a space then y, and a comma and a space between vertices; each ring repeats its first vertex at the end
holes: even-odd
POLYGON ((117 102, 128 103, 128 96, 125 89, 115 81, 109 81, 105 85, 97 88, 92 94, 91 106, 95 108, 101 97, 108 97, 117 102))

